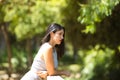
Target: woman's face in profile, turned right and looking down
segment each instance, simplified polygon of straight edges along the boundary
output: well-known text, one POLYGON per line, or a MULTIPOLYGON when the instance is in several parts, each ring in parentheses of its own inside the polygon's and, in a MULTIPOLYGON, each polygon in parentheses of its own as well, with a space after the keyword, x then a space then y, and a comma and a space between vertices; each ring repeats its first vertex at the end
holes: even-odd
POLYGON ((62 40, 64 39, 63 35, 64 35, 63 29, 53 33, 53 40, 55 44, 61 44, 62 40))

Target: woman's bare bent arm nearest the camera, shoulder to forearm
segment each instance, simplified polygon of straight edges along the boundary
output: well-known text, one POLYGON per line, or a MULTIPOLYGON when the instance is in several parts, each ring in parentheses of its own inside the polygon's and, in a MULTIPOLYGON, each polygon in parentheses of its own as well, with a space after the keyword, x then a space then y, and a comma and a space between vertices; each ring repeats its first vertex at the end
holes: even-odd
POLYGON ((68 71, 60 71, 60 70, 56 70, 54 67, 54 57, 53 57, 53 48, 51 46, 47 46, 46 50, 44 51, 44 61, 46 64, 46 68, 47 68, 47 73, 50 76, 54 76, 54 75, 66 75, 69 76, 70 73, 68 71))

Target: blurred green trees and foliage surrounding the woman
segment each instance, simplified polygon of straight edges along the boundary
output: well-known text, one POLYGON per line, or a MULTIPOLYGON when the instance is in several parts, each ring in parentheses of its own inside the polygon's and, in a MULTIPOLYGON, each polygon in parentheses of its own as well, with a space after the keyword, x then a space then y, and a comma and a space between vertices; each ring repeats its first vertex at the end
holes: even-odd
POLYGON ((66 29, 65 80, 120 79, 120 0, 0 0, 1 80, 30 69, 51 23, 66 29))

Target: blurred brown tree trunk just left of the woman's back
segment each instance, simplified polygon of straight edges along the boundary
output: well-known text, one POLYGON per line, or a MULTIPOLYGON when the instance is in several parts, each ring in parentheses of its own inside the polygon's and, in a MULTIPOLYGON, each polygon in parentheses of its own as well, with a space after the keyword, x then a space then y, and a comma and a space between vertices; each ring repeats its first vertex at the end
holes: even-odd
POLYGON ((31 39, 27 39, 26 41, 26 51, 27 51, 27 59, 28 59, 28 67, 32 64, 32 47, 31 47, 31 39))

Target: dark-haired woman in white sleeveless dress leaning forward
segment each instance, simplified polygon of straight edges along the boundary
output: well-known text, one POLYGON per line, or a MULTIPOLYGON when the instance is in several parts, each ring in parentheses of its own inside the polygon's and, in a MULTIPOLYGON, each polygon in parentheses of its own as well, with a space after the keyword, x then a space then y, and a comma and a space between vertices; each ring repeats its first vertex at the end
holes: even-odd
POLYGON ((68 71, 57 70, 58 59, 64 54, 64 33, 64 27, 59 24, 54 23, 48 27, 30 71, 21 80, 42 80, 46 78, 47 80, 56 80, 57 78, 60 80, 60 75, 70 75, 68 71))

